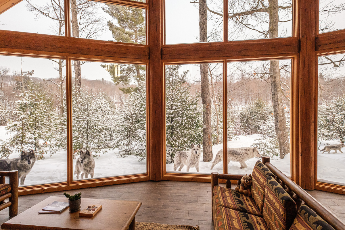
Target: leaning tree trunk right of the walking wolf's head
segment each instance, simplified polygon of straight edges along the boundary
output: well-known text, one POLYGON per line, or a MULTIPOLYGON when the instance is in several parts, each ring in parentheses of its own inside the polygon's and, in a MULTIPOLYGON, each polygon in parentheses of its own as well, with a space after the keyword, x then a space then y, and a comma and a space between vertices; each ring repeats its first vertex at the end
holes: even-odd
MULTIPOLYGON (((269 0, 269 38, 278 37, 278 10, 278 0, 269 0)), ((271 78, 274 127, 279 144, 280 159, 284 159, 286 154, 290 153, 290 145, 283 105, 282 86, 280 84, 279 60, 270 61, 269 75, 271 78)))

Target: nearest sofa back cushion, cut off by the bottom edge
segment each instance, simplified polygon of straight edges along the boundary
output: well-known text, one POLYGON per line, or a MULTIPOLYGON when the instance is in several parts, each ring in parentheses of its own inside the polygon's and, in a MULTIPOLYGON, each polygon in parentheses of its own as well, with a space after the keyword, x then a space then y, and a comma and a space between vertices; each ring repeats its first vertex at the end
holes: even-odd
POLYGON ((311 208, 301 205, 290 230, 334 230, 311 208))

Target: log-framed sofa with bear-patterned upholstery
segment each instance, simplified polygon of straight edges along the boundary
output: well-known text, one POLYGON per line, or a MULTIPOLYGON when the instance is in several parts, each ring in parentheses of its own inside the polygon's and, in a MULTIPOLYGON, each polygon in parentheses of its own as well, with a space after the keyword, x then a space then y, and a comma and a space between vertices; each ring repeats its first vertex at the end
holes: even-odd
POLYGON ((255 164, 251 197, 231 189, 231 180, 242 176, 212 172, 215 230, 345 230, 343 222, 270 164, 269 158, 255 164), (226 187, 219 186, 219 179, 226 180, 226 187))

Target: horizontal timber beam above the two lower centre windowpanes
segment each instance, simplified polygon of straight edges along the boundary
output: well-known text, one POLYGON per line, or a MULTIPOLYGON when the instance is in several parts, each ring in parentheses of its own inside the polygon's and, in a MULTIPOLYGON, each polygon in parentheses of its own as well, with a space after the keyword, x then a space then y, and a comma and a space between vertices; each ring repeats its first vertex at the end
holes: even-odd
POLYGON ((298 38, 164 45, 162 59, 217 60, 245 55, 298 53, 298 38))

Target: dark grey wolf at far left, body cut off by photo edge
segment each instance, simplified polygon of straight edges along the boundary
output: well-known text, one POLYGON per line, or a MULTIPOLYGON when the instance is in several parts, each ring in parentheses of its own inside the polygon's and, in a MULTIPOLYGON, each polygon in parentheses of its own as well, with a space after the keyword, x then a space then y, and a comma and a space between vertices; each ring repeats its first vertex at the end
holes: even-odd
POLYGON ((0 159, 0 171, 18 170, 18 183, 24 185, 26 176, 35 164, 36 156, 31 149, 28 152, 22 151, 20 157, 12 159, 0 159))

